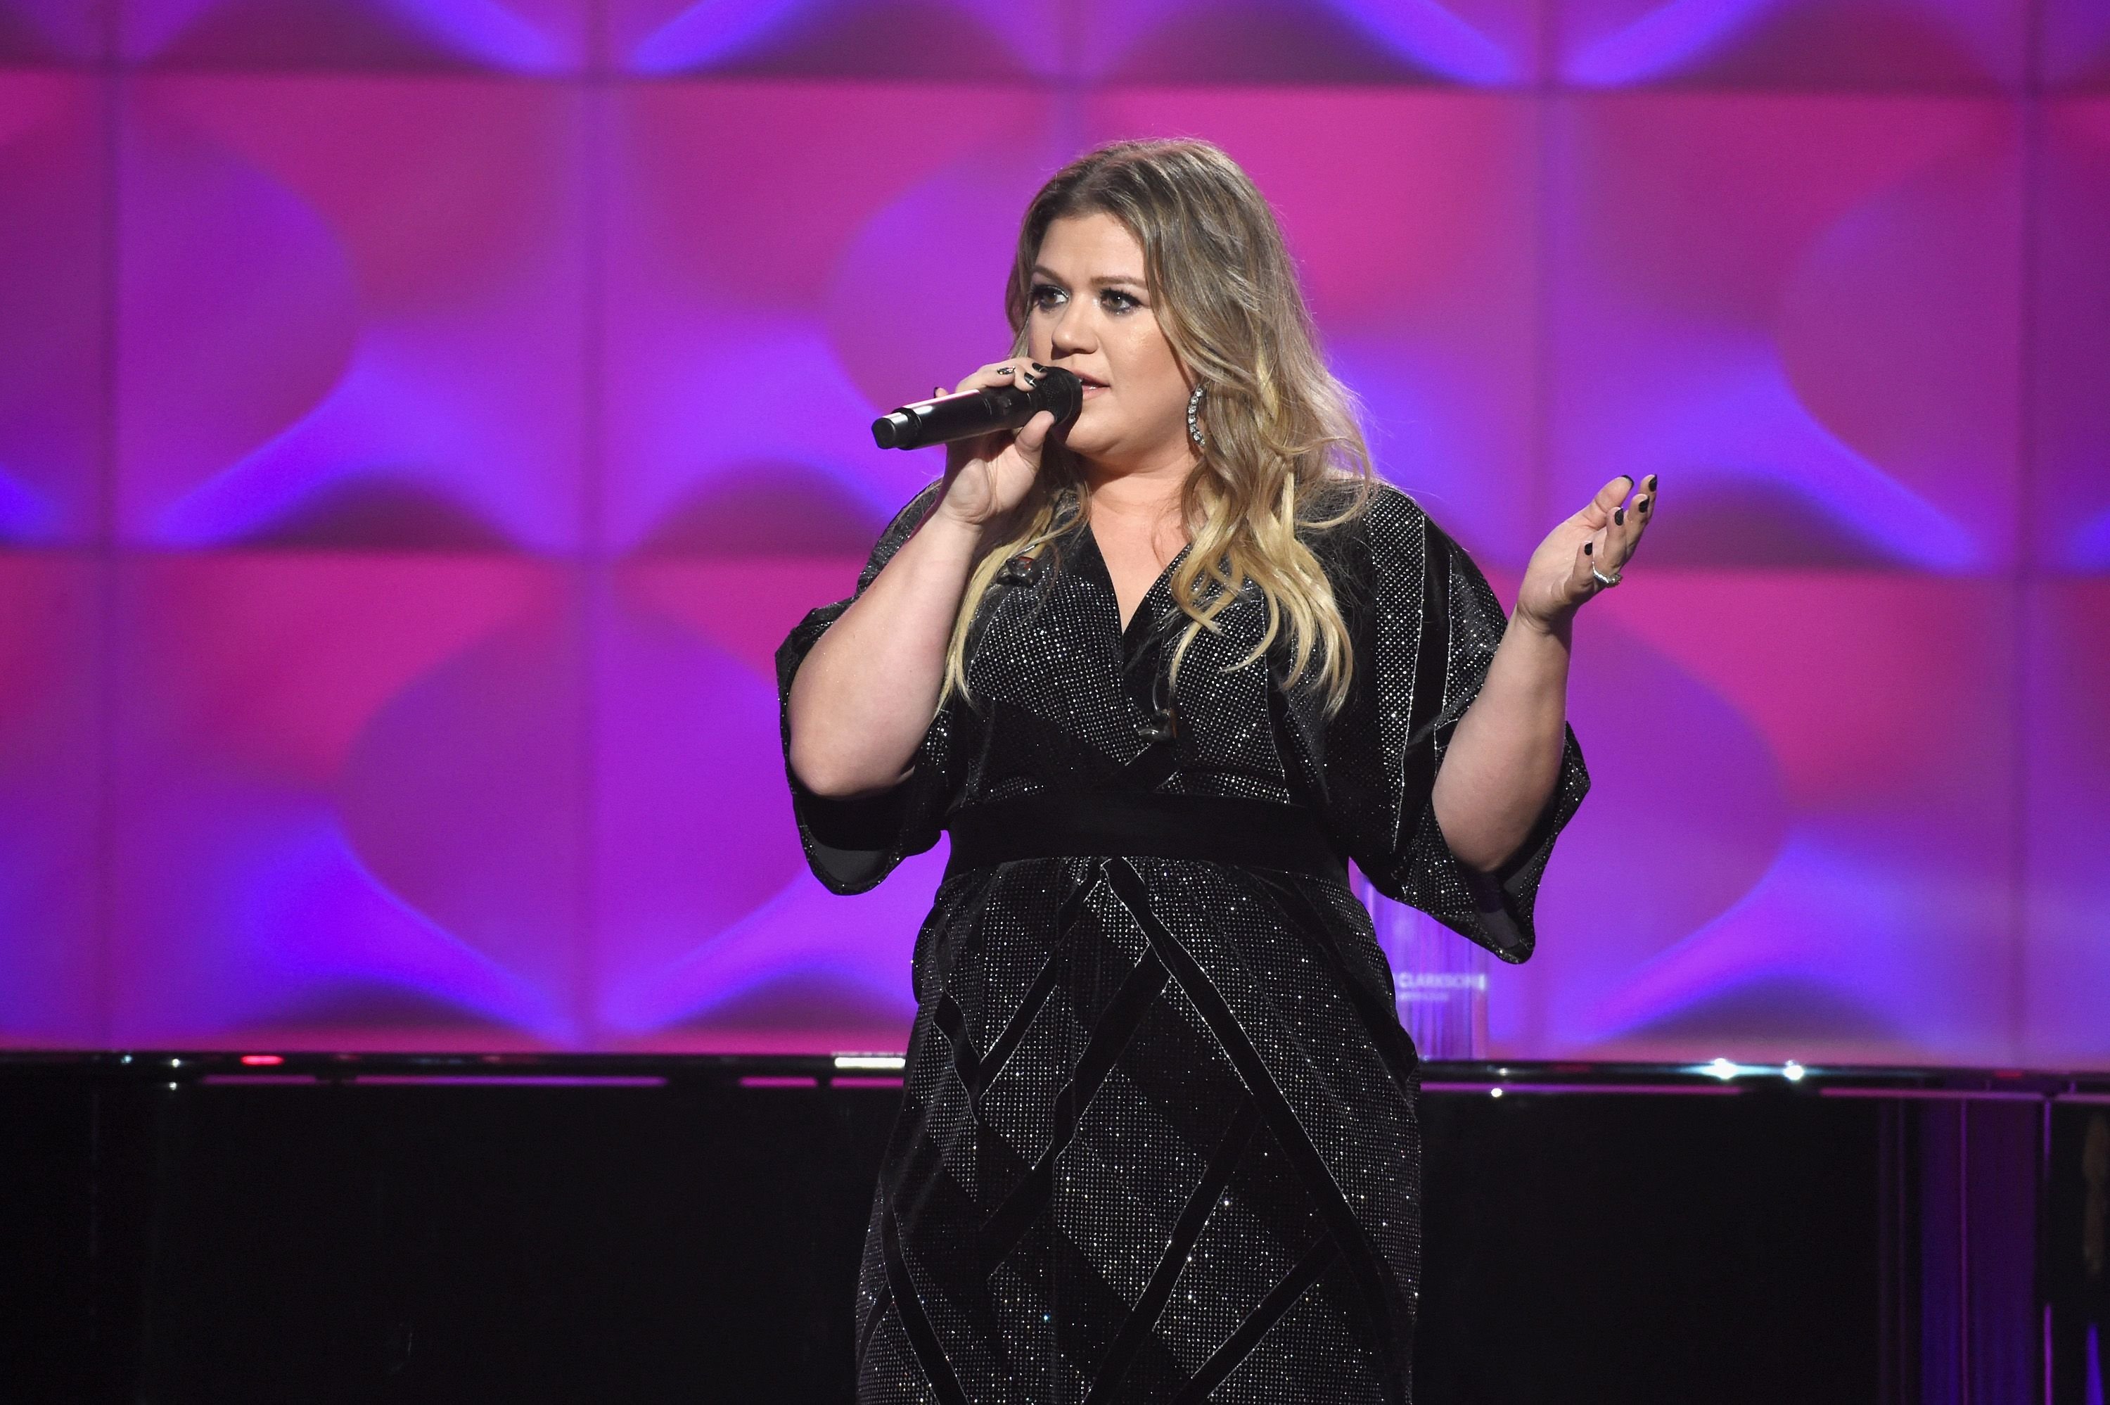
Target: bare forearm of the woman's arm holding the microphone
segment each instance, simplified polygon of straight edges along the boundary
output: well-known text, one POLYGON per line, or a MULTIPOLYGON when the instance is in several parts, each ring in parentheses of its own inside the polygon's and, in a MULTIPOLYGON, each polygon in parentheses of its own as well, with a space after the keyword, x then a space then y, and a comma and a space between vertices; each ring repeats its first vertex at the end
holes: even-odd
POLYGON ((981 532, 933 513, 827 627, 791 679, 791 770, 819 795, 901 781, 937 713, 945 646, 981 532))

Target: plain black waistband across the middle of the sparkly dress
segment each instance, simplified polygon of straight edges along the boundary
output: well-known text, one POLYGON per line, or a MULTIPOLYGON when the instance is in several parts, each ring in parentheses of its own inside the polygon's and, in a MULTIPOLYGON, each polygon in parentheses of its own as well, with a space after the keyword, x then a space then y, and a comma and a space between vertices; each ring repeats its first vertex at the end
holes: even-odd
POLYGON ((1207 859, 1348 882, 1325 825, 1306 806, 1230 795, 1082 791, 956 810, 945 875, 1015 859, 1207 859))

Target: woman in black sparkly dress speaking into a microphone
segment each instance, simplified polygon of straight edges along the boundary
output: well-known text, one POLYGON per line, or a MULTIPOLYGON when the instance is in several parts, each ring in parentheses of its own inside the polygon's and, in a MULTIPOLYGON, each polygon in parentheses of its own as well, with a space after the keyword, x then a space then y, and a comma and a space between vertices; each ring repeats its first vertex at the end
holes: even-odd
POLYGON ((1034 196, 1013 357, 1063 432, 954 445, 776 656, 838 892, 952 831, 859 1283, 857 1399, 1397 1401, 1420 1278, 1414 1044, 1353 859, 1509 962, 1589 781, 1576 608, 1654 481, 1515 612, 1376 481, 1266 200, 1205 141, 1034 196))

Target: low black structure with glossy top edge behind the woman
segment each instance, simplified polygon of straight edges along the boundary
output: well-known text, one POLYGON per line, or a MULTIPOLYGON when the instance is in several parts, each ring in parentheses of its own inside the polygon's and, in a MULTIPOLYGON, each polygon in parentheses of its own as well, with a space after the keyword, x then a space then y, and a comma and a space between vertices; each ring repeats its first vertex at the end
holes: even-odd
MULTIPOLYGON (((1424 1065, 1424 1405, 2089 1399, 2110 1078, 1724 1072, 1424 1065)), ((846 1401, 899 1097, 827 1057, 0 1055, 0 1401, 846 1401)))

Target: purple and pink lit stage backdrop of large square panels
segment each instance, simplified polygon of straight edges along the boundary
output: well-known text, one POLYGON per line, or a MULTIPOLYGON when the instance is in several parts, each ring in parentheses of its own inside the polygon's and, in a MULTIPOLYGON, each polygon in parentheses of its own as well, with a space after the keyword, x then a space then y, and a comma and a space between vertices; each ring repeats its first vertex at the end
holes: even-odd
POLYGON ((0 1042, 899 1048, 770 654, 1205 135, 1578 627, 1502 1057, 2110 1065, 2102 0, 0 0, 0 1042))

